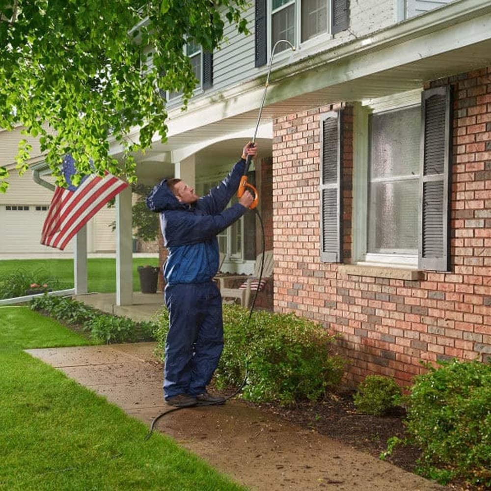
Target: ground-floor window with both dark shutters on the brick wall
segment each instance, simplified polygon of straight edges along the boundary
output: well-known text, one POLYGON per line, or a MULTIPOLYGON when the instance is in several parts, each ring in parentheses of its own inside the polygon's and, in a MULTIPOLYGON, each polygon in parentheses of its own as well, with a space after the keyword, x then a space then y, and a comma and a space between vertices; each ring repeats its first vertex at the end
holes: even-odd
POLYGON ((353 128, 351 118, 343 123, 343 111, 321 117, 322 261, 342 262, 351 252, 358 264, 449 271, 451 107, 446 86, 372 100, 366 107, 357 103, 353 128), (355 136, 346 237, 341 195, 351 174, 343 167, 345 124, 355 136))

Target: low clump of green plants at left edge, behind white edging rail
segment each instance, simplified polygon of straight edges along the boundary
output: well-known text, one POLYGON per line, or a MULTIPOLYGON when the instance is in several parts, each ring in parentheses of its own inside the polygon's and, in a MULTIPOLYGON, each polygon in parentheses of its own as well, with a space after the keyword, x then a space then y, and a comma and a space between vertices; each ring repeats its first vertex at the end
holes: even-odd
POLYGON ((27 290, 33 288, 42 290, 60 290, 65 286, 42 268, 27 271, 23 268, 0 278, 0 300, 23 297, 27 290), (31 287, 31 285, 38 285, 31 287), (46 286, 44 286, 46 285, 46 286))

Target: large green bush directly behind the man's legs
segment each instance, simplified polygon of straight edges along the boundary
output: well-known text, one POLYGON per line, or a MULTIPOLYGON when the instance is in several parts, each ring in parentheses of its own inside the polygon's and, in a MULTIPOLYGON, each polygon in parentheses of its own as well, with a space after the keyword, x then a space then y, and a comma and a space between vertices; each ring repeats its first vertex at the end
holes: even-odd
MULTIPOLYGON (((332 355, 333 336, 312 321, 293 314, 249 312, 223 305, 224 348, 215 372, 219 389, 236 388, 247 380, 242 397, 255 402, 290 404, 320 399, 339 384, 345 361, 332 355)), ((157 333, 161 353, 168 331, 163 314, 157 333)))

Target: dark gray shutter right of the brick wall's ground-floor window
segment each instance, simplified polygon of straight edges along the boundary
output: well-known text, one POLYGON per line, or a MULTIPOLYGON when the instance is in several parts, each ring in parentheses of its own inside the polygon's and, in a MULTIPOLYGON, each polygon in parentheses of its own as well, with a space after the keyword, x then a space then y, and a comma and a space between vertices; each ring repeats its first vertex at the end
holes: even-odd
POLYGON ((422 94, 418 267, 424 270, 449 269, 450 96, 448 85, 422 94))

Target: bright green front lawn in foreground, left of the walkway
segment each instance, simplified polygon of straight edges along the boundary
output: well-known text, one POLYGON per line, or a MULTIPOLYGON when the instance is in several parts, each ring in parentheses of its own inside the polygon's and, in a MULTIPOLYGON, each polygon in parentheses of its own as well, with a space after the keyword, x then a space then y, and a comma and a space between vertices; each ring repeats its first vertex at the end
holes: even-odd
POLYGON ((0 307, 0 489, 243 490, 23 348, 87 341, 27 307, 0 307))

